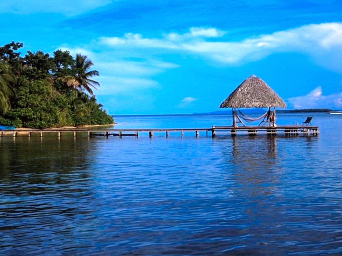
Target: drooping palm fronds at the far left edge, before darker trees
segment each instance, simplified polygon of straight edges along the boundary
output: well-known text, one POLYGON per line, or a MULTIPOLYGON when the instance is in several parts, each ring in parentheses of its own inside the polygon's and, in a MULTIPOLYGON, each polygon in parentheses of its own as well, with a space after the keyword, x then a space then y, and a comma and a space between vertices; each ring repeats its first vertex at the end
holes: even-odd
POLYGON ((0 113, 6 114, 11 108, 10 97, 14 94, 11 83, 15 82, 9 65, 0 63, 0 113))

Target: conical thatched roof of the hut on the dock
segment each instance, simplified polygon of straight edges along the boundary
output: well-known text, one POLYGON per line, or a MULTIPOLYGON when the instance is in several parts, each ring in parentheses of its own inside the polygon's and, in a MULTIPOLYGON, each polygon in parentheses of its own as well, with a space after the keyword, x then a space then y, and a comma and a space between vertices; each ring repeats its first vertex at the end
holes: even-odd
POLYGON ((262 79, 249 76, 226 98, 220 107, 286 107, 285 102, 262 79))

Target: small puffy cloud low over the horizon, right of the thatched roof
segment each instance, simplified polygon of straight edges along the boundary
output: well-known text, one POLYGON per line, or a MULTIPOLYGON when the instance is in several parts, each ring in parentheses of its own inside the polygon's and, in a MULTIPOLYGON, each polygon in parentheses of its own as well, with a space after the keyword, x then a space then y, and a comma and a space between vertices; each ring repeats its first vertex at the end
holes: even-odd
POLYGON ((306 95, 291 97, 287 101, 293 108, 341 108, 342 93, 323 95, 322 87, 318 86, 306 95))

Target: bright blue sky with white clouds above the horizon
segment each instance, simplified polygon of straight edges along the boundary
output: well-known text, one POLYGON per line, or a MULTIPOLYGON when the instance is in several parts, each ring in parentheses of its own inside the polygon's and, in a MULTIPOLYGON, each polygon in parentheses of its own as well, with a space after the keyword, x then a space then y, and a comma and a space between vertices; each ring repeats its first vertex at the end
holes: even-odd
POLYGON ((207 112, 250 74, 342 109, 340 0, 1 0, 0 45, 81 52, 110 114, 207 112))

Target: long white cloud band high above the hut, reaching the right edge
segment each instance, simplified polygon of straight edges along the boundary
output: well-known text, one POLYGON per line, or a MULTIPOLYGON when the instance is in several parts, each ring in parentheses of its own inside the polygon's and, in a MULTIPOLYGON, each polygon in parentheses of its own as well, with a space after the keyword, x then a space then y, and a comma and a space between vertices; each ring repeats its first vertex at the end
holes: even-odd
POLYGON ((188 33, 163 34, 161 38, 144 38, 126 33, 123 37, 100 37, 99 43, 119 48, 158 48, 188 52, 220 63, 236 64, 262 59, 276 52, 301 52, 315 58, 318 64, 342 72, 342 23, 309 24, 241 41, 229 41, 226 32, 216 28, 192 27, 188 33), (216 37, 211 41, 209 37, 216 37), (222 38, 220 38, 222 37, 222 38), (219 40, 220 39, 220 40, 219 40), (335 59, 334 61, 331 61, 335 59))

